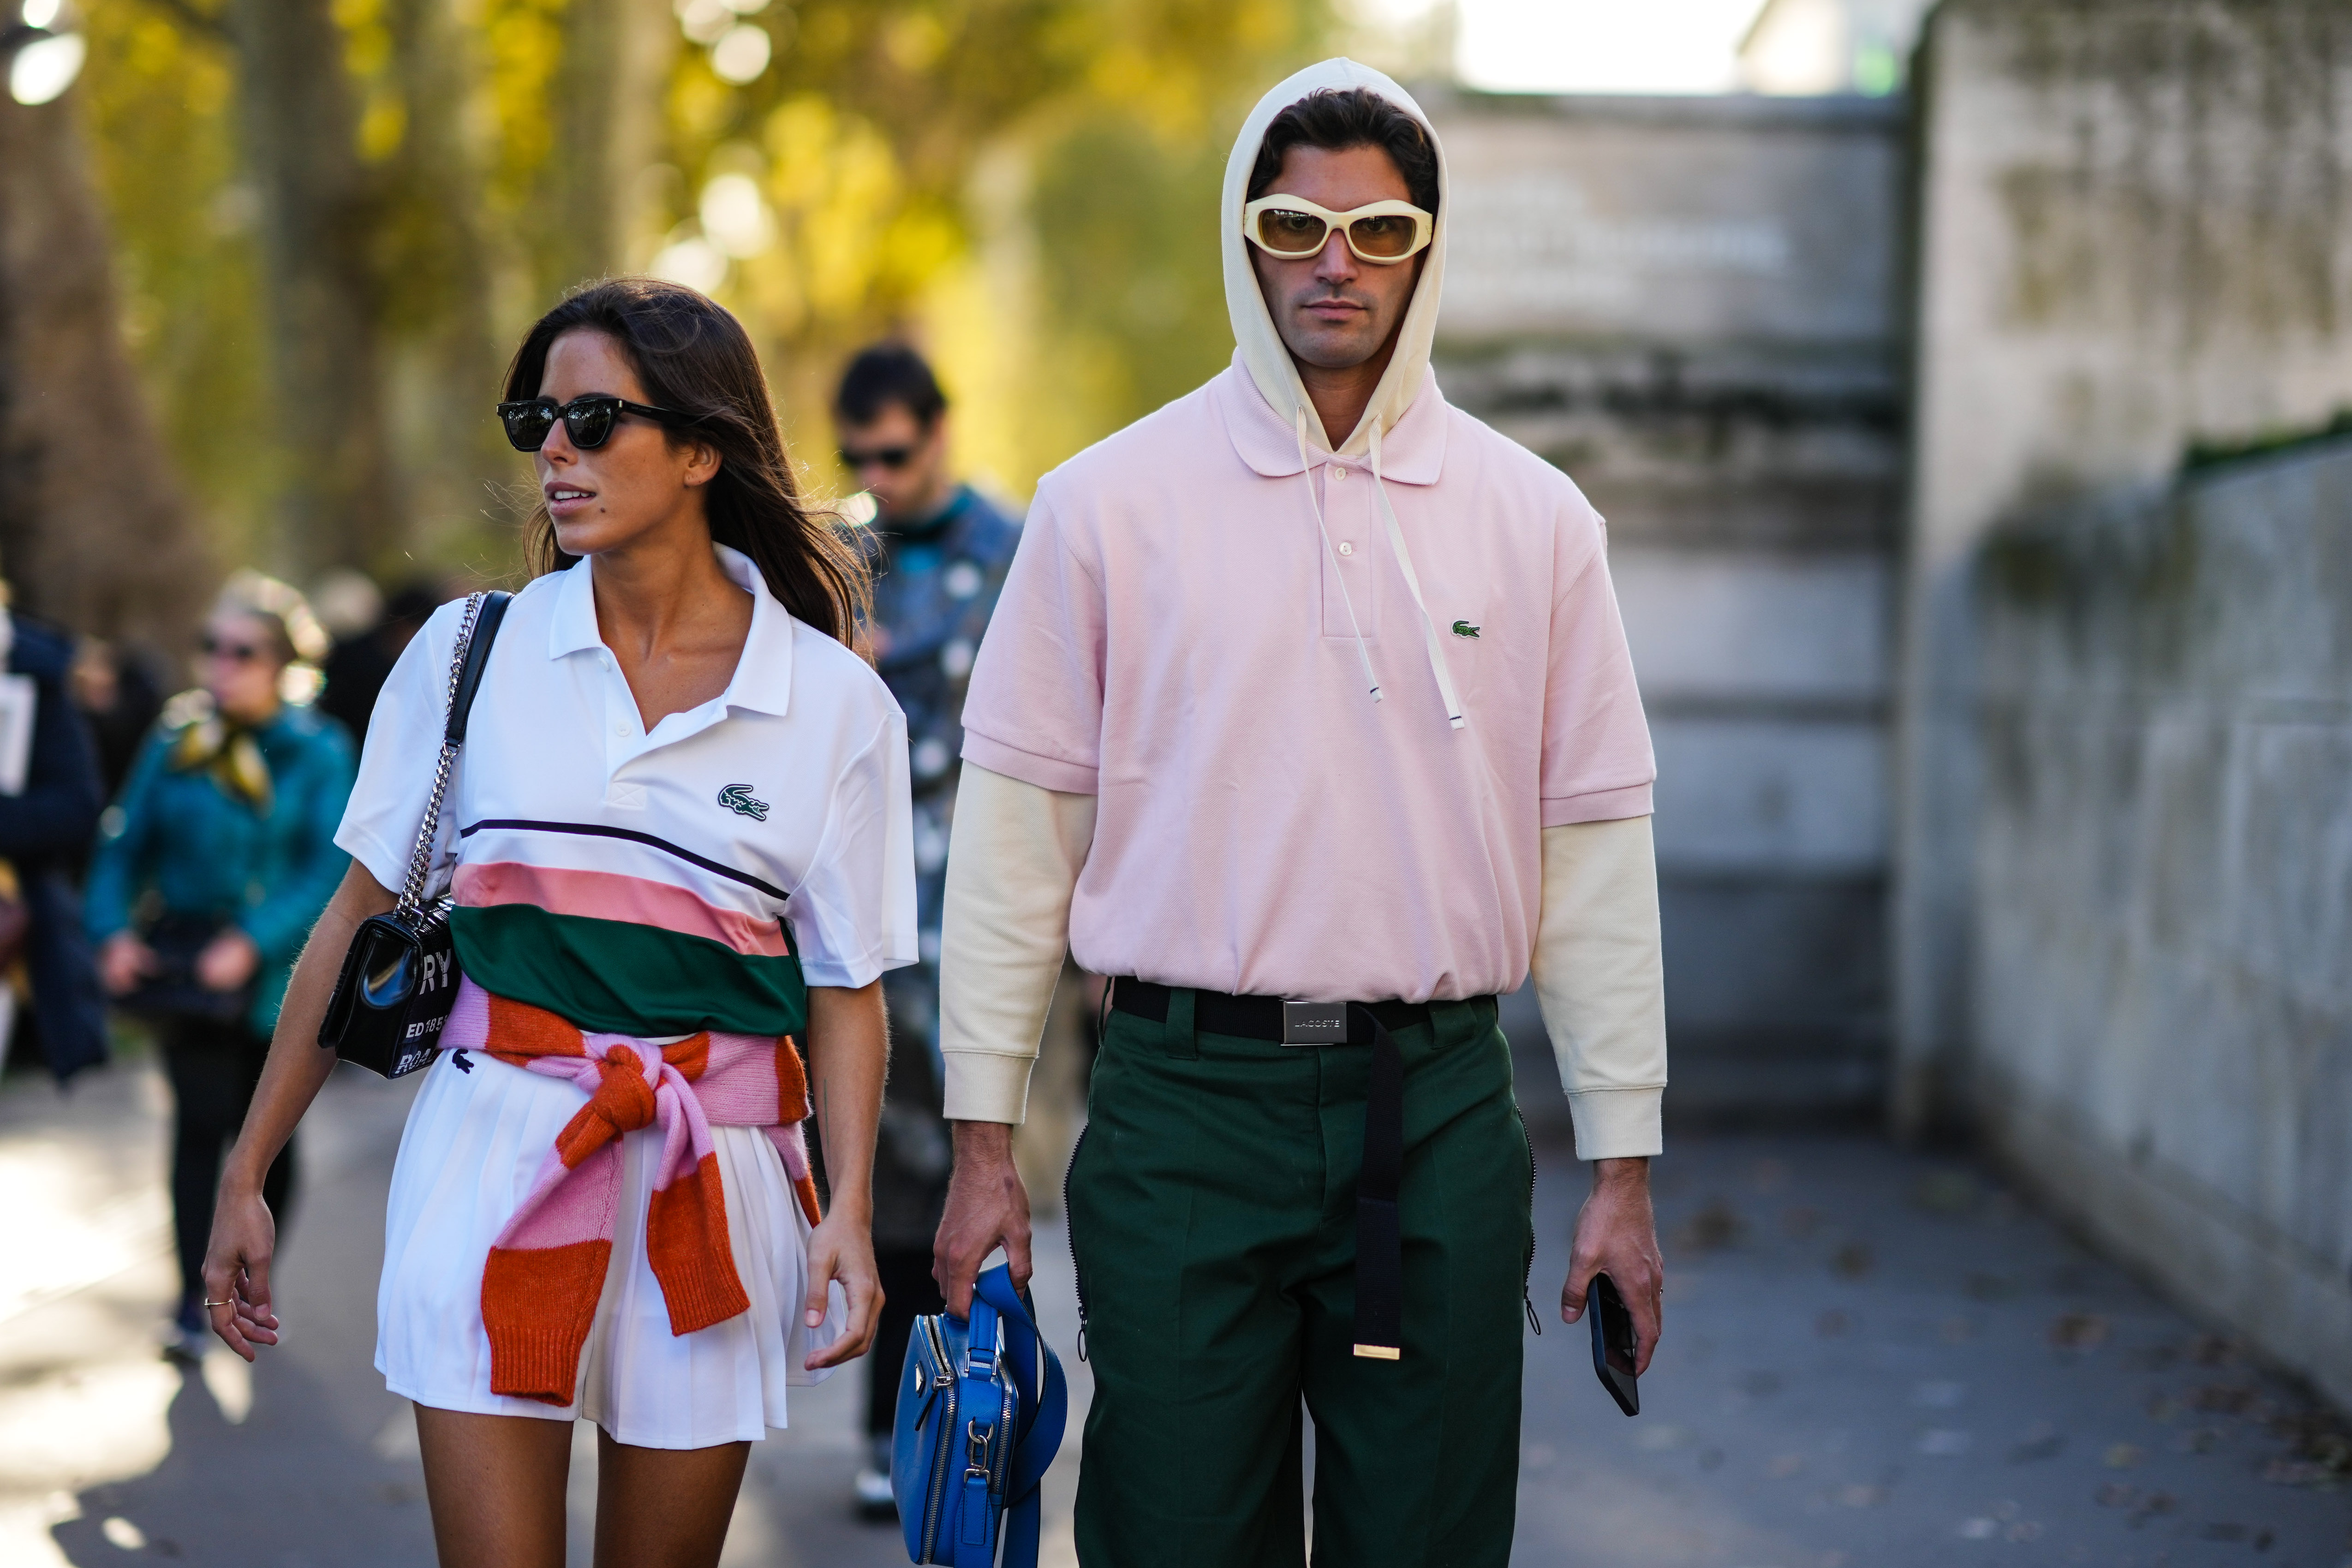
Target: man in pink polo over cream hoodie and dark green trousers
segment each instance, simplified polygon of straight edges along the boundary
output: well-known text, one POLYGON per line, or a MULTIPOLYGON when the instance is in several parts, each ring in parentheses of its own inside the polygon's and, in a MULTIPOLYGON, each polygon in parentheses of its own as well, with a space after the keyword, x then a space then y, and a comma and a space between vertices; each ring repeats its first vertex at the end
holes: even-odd
POLYGON ((1080 1561, 1501 1563, 1534 1157, 1496 994, 1534 969, 1639 1363, 1665 1027, 1649 729, 1604 529, 1446 407, 1444 158, 1352 61, 1225 174, 1237 353, 1047 475, 964 708, 936 1272, 1028 1274, 1021 1121, 1063 947, 1112 976, 1070 1237, 1080 1561))

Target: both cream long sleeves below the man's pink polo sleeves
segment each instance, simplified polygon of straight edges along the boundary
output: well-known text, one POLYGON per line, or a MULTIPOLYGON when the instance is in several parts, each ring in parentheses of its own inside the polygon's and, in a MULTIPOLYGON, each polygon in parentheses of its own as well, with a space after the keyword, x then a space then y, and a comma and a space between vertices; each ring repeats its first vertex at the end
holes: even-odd
MULTIPOLYGON (((1023 1119, 1091 842, 1091 795, 964 764, 938 961, 948 1119, 1023 1119)), ((1665 990, 1646 816, 1543 830, 1534 959, 1578 1157, 1656 1154, 1665 990)))

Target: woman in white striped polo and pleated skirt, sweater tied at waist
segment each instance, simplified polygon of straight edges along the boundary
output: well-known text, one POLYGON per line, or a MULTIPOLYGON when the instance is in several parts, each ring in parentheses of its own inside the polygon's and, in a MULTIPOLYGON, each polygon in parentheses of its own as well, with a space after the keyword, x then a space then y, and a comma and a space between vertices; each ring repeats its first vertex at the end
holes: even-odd
MULTIPOLYGON (((572 1420, 600 1563, 715 1563, 786 1387, 863 1354, 880 976, 915 959, 906 722, 858 654, 866 569, 793 487, 741 324, 602 282, 515 355, 534 581, 459 759, 435 882, 463 969, 393 1171, 376 1368, 416 1403, 447 1566, 564 1561, 572 1420), (807 1046, 807 1053, 800 1046, 807 1046), (818 1213, 800 1119, 830 1178, 818 1213)), ((221 1185, 205 1295, 278 1340, 261 1173, 426 818, 459 609, 402 654, 221 1185)))

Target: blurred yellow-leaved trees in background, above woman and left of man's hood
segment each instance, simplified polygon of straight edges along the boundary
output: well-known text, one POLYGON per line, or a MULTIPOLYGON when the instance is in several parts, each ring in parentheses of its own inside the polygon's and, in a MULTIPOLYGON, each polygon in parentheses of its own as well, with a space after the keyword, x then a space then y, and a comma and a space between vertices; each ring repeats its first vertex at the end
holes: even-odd
POLYGON ((125 336, 207 527, 379 576, 513 564, 506 348, 649 263, 741 310, 804 451, 840 355, 915 331, 1023 487, 1228 353, 1223 136, 1327 28, 1324 0, 89 9, 125 336))

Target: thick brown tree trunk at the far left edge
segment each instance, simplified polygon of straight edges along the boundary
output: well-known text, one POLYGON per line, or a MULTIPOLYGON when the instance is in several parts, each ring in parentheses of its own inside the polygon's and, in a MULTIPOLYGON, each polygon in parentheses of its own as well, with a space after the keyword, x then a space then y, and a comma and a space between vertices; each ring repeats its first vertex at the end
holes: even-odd
POLYGON ((122 350, 78 110, 0 94, 0 574, 33 614, 172 639, 209 581, 122 350))

